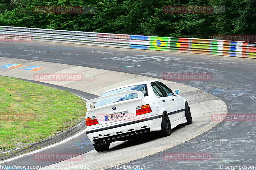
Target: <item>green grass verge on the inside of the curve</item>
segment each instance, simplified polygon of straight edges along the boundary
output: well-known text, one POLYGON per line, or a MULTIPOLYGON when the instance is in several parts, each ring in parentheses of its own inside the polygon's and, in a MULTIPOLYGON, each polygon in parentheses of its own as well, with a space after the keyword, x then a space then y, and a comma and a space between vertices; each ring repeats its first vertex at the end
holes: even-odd
POLYGON ((0 76, 0 152, 41 141, 85 119, 78 96, 0 76))

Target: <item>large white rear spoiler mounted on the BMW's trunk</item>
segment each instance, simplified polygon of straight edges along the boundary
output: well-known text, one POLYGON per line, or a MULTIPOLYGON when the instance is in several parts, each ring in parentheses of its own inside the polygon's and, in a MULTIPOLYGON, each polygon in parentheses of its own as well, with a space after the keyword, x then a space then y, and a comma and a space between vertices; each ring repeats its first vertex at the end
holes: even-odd
MULTIPOLYGON (((107 96, 98 97, 98 98, 95 98, 95 99, 88 100, 86 102, 87 111, 90 111, 92 109, 93 110, 97 110, 97 109, 100 109, 100 108, 103 108, 103 107, 108 107, 108 106, 113 104, 113 103, 109 103, 109 104, 102 105, 102 106, 99 106, 99 107, 96 107, 96 108, 91 108, 91 105, 90 105, 91 103, 94 103, 94 102, 97 102, 97 101, 100 101, 100 100, 104 100, 104 99, 109 99, 109 98, 112 98, 112 97, 117 97, 117 96, 121 96, 121 95, 131 94, 131 93, 137 93, 138 97, 137 98, 133 98, 133 99, 119 101, 119 102, 121 102, 121 103, 128 103, 128 102, 132 102, 132 101, 142 100, 144 98, 144 94, 142 92, 140 92, 140 91, 137 91, 137 90, 129 90, 129 91, 126 91, 126 92, 110 94, 110 95, 107 95, 107 96)), ((116 102, 116 104, 119 103, 119 102, 116 102)))

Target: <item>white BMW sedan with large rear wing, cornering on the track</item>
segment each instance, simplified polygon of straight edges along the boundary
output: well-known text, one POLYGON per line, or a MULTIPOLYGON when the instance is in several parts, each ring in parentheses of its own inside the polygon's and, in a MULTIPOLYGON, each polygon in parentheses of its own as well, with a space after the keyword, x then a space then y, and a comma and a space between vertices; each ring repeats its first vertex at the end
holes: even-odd
POLYGON ((169 136, 179 124, 191 124, 188 102, 179 92, 151 80, 117 87, 88 100, 86 134, 95 150, 107 151, 111 142, 151 131, 169 136))

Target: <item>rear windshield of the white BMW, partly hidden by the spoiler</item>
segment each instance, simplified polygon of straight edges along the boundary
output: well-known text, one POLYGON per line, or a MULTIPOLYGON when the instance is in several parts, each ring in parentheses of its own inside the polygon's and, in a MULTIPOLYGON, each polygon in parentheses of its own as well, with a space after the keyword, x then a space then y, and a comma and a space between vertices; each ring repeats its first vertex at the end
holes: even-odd
MULTIPOLYGON (((116 89, 110 92, 106 92, 100 95, 100 97, 103 96, 107 96, 110 94, 116 94, 116 93, 120 93, 120 92, 126 92, 129 90, 138 90, 140 92, 142 92, 144 94, 144 96, 148 96, 148 90, 147 90, 147 85, 133 85, 130 87, 124 87, 121 89, 116 89)), ((104 100, 99 100, 95 103, 94 108, 95 107, 99 107, 99 106, 103 106, 109 103, 115 103, 118 101, 123 101, 123 100, 129 100, 129 99, 134 99, 134 98, 138 98, 137 93, 130 93, 130 94, 125 94, 125 95, 120 95, 120 96, 116 96, 116 97, 111 97, 108 99, 104 99, 104 100)))

